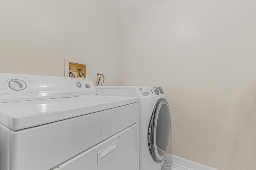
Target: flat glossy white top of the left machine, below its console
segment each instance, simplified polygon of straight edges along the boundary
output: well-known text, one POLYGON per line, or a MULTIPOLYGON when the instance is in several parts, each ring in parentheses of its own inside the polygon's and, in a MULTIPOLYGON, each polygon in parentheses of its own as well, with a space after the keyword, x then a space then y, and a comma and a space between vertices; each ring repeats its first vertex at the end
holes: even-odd
POLYGON ((20 130, 136 102, 136 97, 82 95, 2 103, 0 123, 12 130, 20 130))

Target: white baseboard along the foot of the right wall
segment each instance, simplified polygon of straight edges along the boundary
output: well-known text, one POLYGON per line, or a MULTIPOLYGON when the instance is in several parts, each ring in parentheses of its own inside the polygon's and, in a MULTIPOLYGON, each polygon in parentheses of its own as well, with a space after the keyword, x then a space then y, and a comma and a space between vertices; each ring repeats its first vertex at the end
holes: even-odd
POLYGON ((172 164, 180 166, 181 168, 185 168, 187 170, 217 170, 215 168, 211 168, 210 166, 199 164, 197 162, 193 162, 191 160, 187 160, 168 153, 166 154, 165 160, 172 162, 172 164))

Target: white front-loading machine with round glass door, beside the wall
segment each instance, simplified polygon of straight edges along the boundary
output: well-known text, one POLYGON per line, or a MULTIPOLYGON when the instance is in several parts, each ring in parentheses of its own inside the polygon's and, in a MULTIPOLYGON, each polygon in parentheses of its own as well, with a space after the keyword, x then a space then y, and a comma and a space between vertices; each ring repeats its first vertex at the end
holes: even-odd
POLYGON ((170 139, 170 108, 161 87, 96 86, 100 95, 139 98, 140 170, 161 170, 170 139))

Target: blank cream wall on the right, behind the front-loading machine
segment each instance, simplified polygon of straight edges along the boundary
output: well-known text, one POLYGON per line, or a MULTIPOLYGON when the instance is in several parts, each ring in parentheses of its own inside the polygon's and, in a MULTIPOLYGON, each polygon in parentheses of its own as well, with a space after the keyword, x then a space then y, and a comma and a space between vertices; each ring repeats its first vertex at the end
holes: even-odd
POLYGON ((256 1, 169 0, 120 21, 120 85, 163 87, 168 152, 256 167, 256 1))

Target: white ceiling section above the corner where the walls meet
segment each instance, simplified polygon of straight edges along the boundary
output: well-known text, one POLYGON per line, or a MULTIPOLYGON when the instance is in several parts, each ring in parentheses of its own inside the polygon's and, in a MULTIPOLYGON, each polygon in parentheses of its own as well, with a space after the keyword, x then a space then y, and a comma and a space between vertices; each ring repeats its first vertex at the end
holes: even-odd
POLYGON ((167 0, 91 0, 108 14, 121 20, 167 0))

